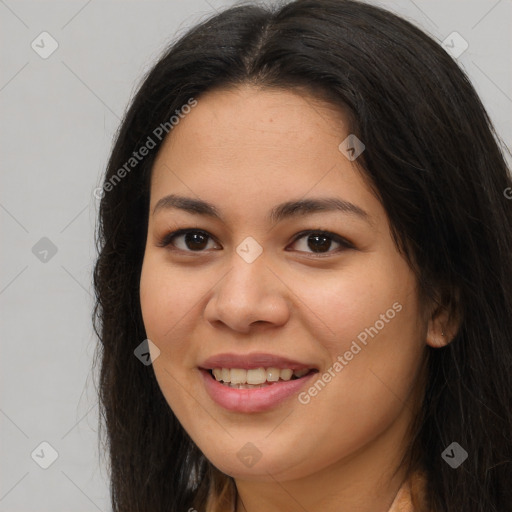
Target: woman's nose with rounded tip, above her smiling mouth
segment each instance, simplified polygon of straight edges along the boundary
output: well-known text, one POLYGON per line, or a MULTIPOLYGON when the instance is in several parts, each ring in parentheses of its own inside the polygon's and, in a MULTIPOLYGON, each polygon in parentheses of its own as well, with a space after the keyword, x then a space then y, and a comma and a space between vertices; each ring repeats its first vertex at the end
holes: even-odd
POLYGON ((284 325, 290 317, 290 290, 262 256, 247 263, 233 255, 230 270, 214 286, 204 316, 212 325, 248 333, 254 324, 284 325))

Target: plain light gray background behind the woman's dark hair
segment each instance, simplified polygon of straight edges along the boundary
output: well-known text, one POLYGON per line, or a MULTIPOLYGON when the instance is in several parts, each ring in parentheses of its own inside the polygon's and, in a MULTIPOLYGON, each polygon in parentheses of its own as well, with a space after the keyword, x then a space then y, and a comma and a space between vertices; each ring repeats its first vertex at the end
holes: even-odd
MULTIPOLYGON (((92 192, 142 74, 178 34, 234 3, 0 0, 2 512, 111 510, 91 370, 92 192), (47 59, 31 47, 43 31, 59 45, 47 59), (58 453, 47 469, 35 462, 50 461, 43 441, 58 453)), ((439 41, 461 34, 469 47, 457 60, 509 144, 512 1, 380 5, 439 41)))

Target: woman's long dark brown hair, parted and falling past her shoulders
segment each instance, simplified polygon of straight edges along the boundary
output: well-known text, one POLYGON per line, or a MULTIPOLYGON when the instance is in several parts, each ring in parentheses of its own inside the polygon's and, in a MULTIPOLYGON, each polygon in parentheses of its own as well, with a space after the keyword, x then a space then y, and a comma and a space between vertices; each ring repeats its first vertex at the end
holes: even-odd
POLYGON ((273 9, 240 5, 191 29, 144 77, 117 133, 99 194, 93 313, 114 512, 215 511, 236 492, 184 431, 134 349, 146 338, 139 279, 162 133, 172 136, 169 120, 191 99, 247 83, 306 88, 348 108, 351 131, 366 145, 361 172, 422 297, 460 318, 451 343, 427 347, 409 474, 425 471, 431 511, 511 511, 505 147, 465 73, 421 30, 358 1, 296 0, 273 9), (133 160, 148 137, 154 147, 133 160), (452 442, 468 452, 457 469, 441 456, 452 442))

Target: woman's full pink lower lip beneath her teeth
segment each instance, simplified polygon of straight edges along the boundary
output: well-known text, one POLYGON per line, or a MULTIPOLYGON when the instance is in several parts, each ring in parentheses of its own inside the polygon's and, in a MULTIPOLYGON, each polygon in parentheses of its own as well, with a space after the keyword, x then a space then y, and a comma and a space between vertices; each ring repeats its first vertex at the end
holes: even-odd
POLYGON ((200 369, 206 392, 224 409, 234 412, 261 412, 280 405, 287 398, 298 394, 317 372, 300 379, 279 380, 263 388, 236 389, 215 380, 209 371, 200 369))

